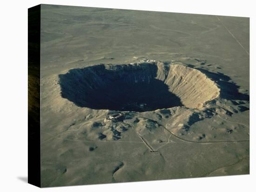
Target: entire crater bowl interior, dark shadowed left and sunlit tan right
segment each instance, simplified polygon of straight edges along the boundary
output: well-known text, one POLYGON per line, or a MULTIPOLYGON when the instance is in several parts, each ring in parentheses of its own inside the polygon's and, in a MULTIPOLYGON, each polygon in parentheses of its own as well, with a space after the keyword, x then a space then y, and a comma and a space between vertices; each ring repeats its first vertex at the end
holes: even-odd
POLYGON ((71 69, 59 75, 59 82, 61 96, 75 105, 115 111, 198 108, 219 94, 214 82, 203 73, 152 60, 71 69), (209 87, 202 87, 205 85, 209 87))

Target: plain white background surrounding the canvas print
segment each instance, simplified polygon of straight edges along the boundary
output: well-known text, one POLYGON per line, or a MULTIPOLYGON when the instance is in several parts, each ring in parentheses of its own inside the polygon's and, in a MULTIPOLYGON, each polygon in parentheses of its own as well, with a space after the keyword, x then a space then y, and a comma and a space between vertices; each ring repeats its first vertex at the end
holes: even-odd
POLYGON ((0 191, 256 191, 254 0, 2 0, 0 4, 0 191), (250 175, 39 189, 27 184, 27 8, 40 3, 250 17, 250 175), (254 58, 253 58, 254 57, 254 58), (253 60, 254 59, 254 60, 253 60), (254 116, 254 118, 252 118, 254 116))

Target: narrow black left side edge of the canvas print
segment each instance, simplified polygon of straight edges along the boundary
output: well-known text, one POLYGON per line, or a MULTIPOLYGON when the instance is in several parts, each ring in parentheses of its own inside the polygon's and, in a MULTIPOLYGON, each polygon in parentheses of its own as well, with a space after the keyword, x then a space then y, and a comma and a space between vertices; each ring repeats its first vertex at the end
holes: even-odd
POLYGON ((28 183, 40 187, 40 9, 28 8, 28 183))

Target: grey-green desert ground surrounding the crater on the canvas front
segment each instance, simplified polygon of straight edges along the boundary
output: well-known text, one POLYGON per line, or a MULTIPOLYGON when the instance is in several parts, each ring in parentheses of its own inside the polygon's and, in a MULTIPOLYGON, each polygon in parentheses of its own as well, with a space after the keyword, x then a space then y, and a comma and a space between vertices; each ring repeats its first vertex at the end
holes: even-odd
POLYGON ((249 174, 249 18, 42 5, 41 107, 43 187, 249 174), (70 69, 143 59, 199 70, 220 95, 121 120, 61 96, 70 69))

